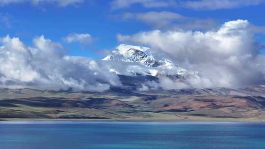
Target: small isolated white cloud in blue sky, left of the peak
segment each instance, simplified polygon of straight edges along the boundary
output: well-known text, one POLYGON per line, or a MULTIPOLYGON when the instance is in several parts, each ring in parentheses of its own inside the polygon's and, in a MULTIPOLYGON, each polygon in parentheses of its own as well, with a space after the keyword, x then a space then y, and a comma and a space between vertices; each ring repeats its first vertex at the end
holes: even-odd
POLYGON ((79 42, 81 44, 89 44, 93 39, 90 34, 71 33, 63 38, 63 40, 67 43, 79 42))

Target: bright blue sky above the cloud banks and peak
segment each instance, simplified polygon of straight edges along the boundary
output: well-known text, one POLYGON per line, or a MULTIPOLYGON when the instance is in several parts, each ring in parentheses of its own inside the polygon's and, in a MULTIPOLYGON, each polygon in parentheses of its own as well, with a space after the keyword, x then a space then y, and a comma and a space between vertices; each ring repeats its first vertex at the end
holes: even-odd
MULTIPOLYGON (((253 3, 247 4, 245 0, 239 0, 238 3, 231 2, 230 5, 227 4, 221 8, 205 6, 209 2, 208 0, 193 0, 197 3, 188 6, 185 0, 182 3, 175 2, 170 5, 164 4, 174 0, 142 0, 142 2, 127 0, 128 3, 125 2, 125 6, 118 5, 119 2, 122 2, 121 0, 76 0, 76 2, 73 0, 73 3, 65 5, 60 3, 60 0, 39 3, 31 2, 31 0, 6 1, 2 4, 0 2, 1 37, 9 34, 12 37, 19 37, 24 43, 31 45, 34 37, 44 35, 54 42, 61 43, 67 49, 68 55, 97 59, 104 57, 105 50, 111 50, 120 44, 116 39, 119 33, 134 34, 153 29, 167 30, 173 25, 181 25, 180 27, 190 25, 190 28, 183 29, 205 31, 226 21, 237 19, 248 20, 252 25, 261 28, 265 26, 264 0, 252 0, 253 3), (157 20, 146 22, 135 16, 132 17, 135 14, 141 15, 148 12, 170 12, 186 19, 181 22, 167 19, 164 20, 165 24, 160 25, 157 20), (125 17, 126 13, 131 15, 129 19, 125 17), (202 20, 204 22, 206 19, 208 21, 205 22, 206 28, 192 26, 194 21, 202 20), (70 33, 90 34, 92 41, 86 44, 67 43, 63 38, 70 33)), ((257 34, 256 40, 265 43, 264 32, 257 34)))

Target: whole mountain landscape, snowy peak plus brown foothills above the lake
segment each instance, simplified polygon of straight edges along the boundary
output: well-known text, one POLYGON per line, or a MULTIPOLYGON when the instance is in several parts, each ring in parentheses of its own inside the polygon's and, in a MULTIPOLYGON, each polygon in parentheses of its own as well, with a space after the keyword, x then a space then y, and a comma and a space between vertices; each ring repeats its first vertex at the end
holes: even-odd
POLYGON ((118 46, 101 61, 122 86, 103 92, 0 88, 0 118, 265 121, 265 86, 166 88, 197 72, 156 53, 118 46))

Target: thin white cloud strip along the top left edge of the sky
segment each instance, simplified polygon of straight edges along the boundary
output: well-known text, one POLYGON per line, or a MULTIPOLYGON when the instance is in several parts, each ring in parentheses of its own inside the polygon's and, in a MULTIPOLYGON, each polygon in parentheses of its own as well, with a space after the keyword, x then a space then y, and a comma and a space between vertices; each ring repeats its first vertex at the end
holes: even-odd
POLYGON ((0 0, 0 5, 12 4, 12 3, 22 3, 31 2, 34 5, 41 3, 55 3, 59 6, 75 5, 84 2, 84 0, 0 0))

